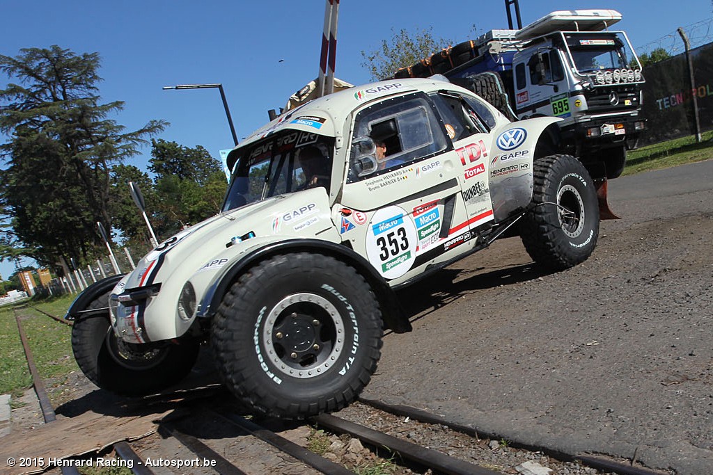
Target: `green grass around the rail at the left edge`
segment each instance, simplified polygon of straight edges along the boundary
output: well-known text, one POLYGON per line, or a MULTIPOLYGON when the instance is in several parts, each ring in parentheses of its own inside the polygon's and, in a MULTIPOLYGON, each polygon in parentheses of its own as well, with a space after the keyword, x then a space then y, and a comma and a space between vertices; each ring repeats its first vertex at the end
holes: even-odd
MULTIPOLYGON (((71 298, 58 298, 48 303, 51 306, 47 308, 54 311, 59 308, 66 310, 68 302, 71 302, 71 298)), ((64 310, 61 310, 60 315, 63 315, 64 310)), ((35 365, 43 380, 52 377, 63 379, 63 376, 78 370, 71 350, 71 327, 58 323, 46 315, 37 314, 35 310, 29 308, 17 311, 21 315, 32 315, 22 319, 22 328, 25 330, 35 365)), ((31 385, 32 377, 27 367, 15 314, 11 307, 1 307, 0 394, 19 397, 31 385)))

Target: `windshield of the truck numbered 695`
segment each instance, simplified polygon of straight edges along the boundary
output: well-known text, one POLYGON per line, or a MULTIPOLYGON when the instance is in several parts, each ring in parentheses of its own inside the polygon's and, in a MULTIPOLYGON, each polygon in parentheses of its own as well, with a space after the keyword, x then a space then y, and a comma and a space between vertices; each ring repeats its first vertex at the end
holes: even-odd
POLYGON ((567 46, 580 73, 641 69, 623 33, 566 33, 567 46))

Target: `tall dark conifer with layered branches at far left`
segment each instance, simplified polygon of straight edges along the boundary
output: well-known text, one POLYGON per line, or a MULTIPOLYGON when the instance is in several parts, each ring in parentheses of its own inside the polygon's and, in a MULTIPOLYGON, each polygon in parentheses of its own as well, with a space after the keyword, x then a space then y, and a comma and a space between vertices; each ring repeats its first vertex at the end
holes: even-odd
POLYGON ((0 90, 0 206, 28 256, 51 265, 86 258, 101 246, 96 221, 111 229, 110 169, 138 154, 166 122, 125 132, 109 116, 123 102, 100 103, 98 53, 59 46, 0 55, 0 71, 17 83, 0 90))

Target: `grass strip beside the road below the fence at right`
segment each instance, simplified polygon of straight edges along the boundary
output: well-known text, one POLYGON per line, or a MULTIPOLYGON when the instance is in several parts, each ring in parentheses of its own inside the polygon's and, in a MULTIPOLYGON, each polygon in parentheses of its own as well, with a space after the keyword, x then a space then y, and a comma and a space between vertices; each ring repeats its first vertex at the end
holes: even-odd
POLYGON ((630 150, 627 152, 627 164, 622 175, 709 160, 713 158, 711 147, 713 147, 713 130, 704 132, 700 143, 696 143, 696 137, 689 135, 630 150))

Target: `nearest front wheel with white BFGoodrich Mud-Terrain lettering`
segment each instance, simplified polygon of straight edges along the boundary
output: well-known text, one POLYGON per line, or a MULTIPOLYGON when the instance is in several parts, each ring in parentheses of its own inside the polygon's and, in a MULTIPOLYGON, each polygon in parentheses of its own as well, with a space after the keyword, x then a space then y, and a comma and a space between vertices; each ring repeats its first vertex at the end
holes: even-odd
POLYGON ((243 274, 212 325, 218 371, 260 414, 304 419, 346 407, 381 356, 381 312, 354 268, 321 254, 274 256, 243 274))

